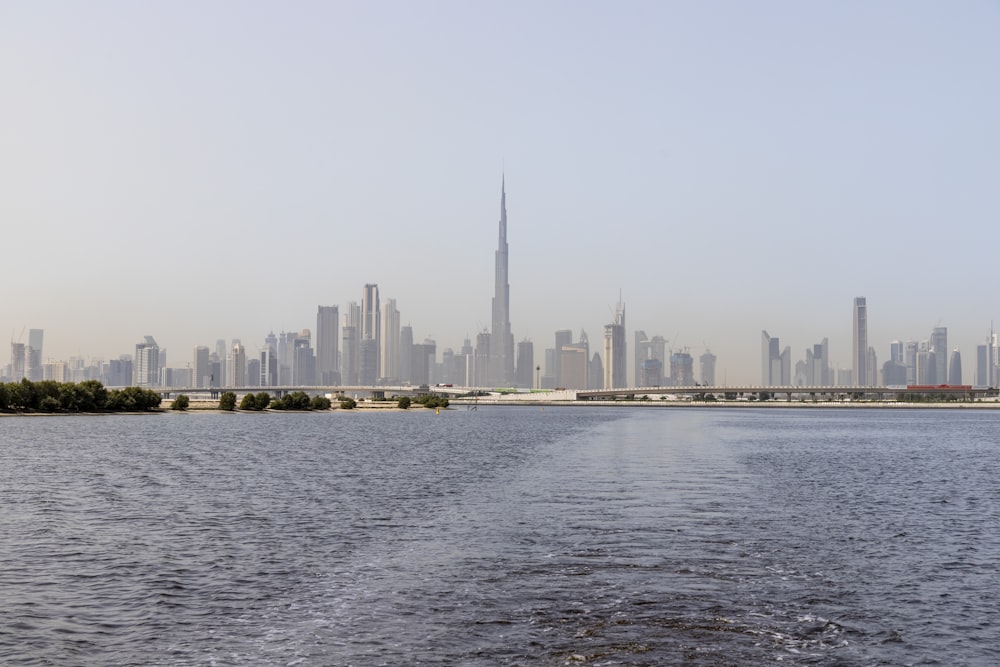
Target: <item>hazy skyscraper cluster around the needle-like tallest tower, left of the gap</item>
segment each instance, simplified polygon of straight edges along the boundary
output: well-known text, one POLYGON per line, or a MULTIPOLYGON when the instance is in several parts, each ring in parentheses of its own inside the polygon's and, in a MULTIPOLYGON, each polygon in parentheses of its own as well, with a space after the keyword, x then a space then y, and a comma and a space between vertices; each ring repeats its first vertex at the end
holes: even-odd
MULTIPOLYGON (((662 336, 636 331, 632 369, 626 347, 625 305, 619 298, 611 323, 604 327, 600 350, 591 350, 587 334, 577 340, 569 329, 555 332, 544 350, 544 368, 536 363, 534 344, 514 344, 510 324, 506 184, 500 187, 499 239, 495 253, 492 328, 465 339, 461 349, 438 354, 434 340, 414 339, 400 317, 395 299, 382 301, 377 284, 364 285, 360 302, 319 306, 315 329, 267 334, 248 348, 239 339, 219 339, 213 347, 197 345, 182 360, 168 363, 167 351, 153 336, 136 343, 134 354, 117 359, 42 363, 40 329, 28 342, 11 343, 11 363, 2 380, 99 380, 107 386, 212 389, 226 387, 375 387, 452 384, 469 387, 612 389, 692 386, 694 361, 687 349, 672 351, 662 336)), ((172 361, 172 359, 171 359, 172 361)), ((715 383, 715 356, 700 357, 700 383, 715 383)))

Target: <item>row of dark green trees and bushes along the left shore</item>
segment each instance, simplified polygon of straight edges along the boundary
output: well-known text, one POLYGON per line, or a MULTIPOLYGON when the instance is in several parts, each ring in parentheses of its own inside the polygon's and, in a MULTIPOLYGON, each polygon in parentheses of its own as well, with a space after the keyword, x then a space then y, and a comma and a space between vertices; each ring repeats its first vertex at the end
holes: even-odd
MULTIPOLYGON (((335 399, 343 410, 357 407, 357 402, 350 397, 341 396, 335 399)), ((55 382, 43 380, 32 382, 27 378, 20 382, 0 382, 0 412, 20 413, 83 413, 83 412, 151 412, 160 409, 163 398, 152 389, 142 387, 124 387, 108 389, 97 380, 83 382, 55 382)), ((407 409, 411 405, 422 405, 426 408, 446 408, 448 399, 438 396, 403 396, 397 399, 396 406, 407 409)), ((185 394, 177 396, 171 402, 171 410, 187 410, 190 399, 185 394)), ((329 410, 332 401, 326 396, 310 396, 303 391, 296 391, 274 398, 266 391, 256 394, 246 394, 239 401, 240 410, 329 410)), ((219 397, 219 410, 233 411, 237 409, 237 396, 227 391, 219 397)))

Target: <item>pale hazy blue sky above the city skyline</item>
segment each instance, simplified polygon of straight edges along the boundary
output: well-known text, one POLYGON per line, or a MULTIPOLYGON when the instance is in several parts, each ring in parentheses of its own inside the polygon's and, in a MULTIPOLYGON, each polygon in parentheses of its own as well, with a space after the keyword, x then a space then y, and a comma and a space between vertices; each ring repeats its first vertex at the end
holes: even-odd
MULTIPOLYGON (((1000 328, 1000 2, 0 0, 0 332, 46 359, 315 329, 627 337, 760 380, 1000 328)), ((631 355, 631 351, 630 351, 631 355)), ((4 360, 6 361, 6 360, 4 360)), ((631 364, 631 356, 630 356, 631 364)))

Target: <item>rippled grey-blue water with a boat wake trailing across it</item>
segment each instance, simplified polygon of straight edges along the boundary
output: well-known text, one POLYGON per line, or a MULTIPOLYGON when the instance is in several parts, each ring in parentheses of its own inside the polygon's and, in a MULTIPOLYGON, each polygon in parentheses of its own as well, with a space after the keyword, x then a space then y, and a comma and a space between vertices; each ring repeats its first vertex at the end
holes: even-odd
POLYGON ((995 665, 1000 413, 0 418, 0 663, 995 665))

